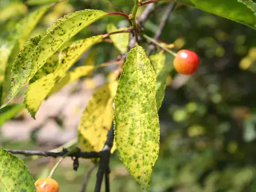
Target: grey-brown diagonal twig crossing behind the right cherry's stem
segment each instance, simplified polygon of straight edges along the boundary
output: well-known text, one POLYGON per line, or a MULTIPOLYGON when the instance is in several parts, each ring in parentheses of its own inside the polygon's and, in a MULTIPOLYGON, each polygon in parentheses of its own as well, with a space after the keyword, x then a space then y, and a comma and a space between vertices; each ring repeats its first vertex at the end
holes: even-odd
MULTIPOLYGON (((175 5, 175 2, 171 2, 169 4, 169 6, 166 7, 166 10, 164 11, 164 14, 163 14, 163 17, 162 17, 162 20, 160 22, 160 25, 158 26, 158 29, 156 31, 156 34, 154 36, 154 39, 155 40, 158 40, 163 29, 164 29, 164 26, 165 26, 165 23, 170 15, 170 13, 172 12, 173 8, 174 8, 174 5, 175 5)), ((149 45, 148 47, 148 50, 147 50, 147 53, 150 54, 153 50, 155 49, 155 46, 154 45, 149 45)))

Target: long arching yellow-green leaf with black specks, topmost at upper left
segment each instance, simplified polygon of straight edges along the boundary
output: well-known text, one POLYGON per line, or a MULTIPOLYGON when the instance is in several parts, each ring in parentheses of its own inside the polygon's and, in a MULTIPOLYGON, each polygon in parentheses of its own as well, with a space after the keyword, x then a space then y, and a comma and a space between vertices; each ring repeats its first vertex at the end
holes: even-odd
POLYGON ((107 13, 100 10, 83 10, 70 13, 53 23, 54 28, 47 29, 47 34, 39 42, 33 53, 31 60, 33 68, 30 71, 30 76, 34 76, 46 60, 71 37, 105 15, 107 13))

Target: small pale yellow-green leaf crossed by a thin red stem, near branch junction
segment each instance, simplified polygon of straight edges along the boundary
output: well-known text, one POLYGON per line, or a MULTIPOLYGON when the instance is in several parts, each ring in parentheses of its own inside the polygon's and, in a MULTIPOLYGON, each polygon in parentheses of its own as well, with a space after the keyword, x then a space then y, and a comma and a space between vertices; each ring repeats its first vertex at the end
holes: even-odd
MULTIPOLYGON (((122 27, 117 29, 116 26, 114 24, 109 24, 107 26, 107 32, 108 33, 112 33, 115 31, 120 31, 120 30, 126 30, 128 29, 127 27, 122 27)), ((127 46, 129 44, 129 33, 119 33, 119 34, 114 34, 114 35, 110 35, 110 39, 113 41, 114 45, 116 46, 116 48, 122 53, 126 53, 127 51, 127 46)))

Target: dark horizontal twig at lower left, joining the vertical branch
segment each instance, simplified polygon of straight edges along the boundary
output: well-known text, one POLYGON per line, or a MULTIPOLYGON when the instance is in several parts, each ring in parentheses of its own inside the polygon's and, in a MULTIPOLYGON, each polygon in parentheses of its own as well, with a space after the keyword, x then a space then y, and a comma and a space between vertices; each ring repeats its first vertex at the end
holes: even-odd
MULTIPOLYGON (((30 150, 12 150, 12 149, 6 149, 9 153, 12 154, 19 154, 19 155, 25 155, 25 156, 42 156, 42 157, 62 157, 66 155, 67 151, 62 152, 51 152, 51 151, 30 151, 30 150)), ((90 152, 75 152, 67 155, 68 157, 79 157, 79 158, 99 158, 100 152, 90 151, 90 152)))

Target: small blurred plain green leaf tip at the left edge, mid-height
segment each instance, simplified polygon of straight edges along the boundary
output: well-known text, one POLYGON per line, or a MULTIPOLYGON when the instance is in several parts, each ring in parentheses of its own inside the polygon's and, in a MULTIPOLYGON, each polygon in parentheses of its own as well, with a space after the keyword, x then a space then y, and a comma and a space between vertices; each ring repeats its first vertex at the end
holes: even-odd
POLYGON ((22 109, 23 105, 13 104, 0 110, 0 128, 9 119, 17 115, 22 109))

